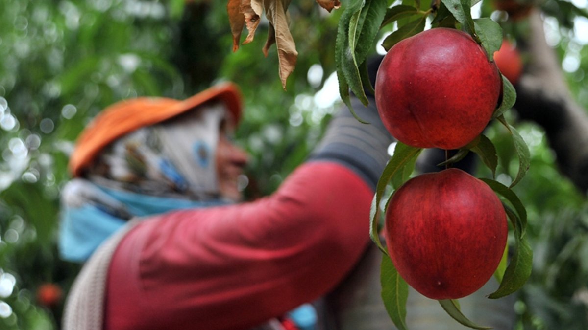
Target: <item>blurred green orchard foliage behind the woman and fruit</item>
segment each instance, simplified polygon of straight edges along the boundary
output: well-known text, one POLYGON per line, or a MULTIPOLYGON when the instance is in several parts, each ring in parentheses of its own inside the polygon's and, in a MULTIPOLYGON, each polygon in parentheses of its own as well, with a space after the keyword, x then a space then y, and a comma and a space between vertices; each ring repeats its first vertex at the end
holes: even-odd
MULTIPOLYGON (((570 97, 587 109, 586 0, 533 5, 543 9, 546 41, 570 97)), ((491 16, 516 39, 526 23, 509 8, 484 0, 472 12, 491 16)), ((78 133, 111 103, 143 95, 182 99, 232 80, 245 96, 236 141, 251 154, 246 195, 271 193, 305 159, 340 106, 332 73, 342 10, 329 14, 313 0, 296 0, 289 11, 299 57, 283 90, 275 46, 267 58, 261 51, 268 24, 233 53, 226 1, 0 2, 0 329, 59 329, 79 270, 58 258, 59 193, 78 133)), ((382 50, 375 45, 373 52, 382 50)), ((518 292, 517 327, 587 329, 585 191, 562 174, 543 126, 517 112, 509 118, 532 153, 530 171, 515 187, 535 255, 532 277, 518 292)), ((512 139, 498 124, 486 134, 499 153, 498 179, 508 183, 518 166, 512 139)), ((581 141, 570 140, 572 149, 581 147, 574 143, 581 141)), ((480 167, 479 176, 487 175, 480 167)), ((366 232, 368 225, 366 218, 366 232)))

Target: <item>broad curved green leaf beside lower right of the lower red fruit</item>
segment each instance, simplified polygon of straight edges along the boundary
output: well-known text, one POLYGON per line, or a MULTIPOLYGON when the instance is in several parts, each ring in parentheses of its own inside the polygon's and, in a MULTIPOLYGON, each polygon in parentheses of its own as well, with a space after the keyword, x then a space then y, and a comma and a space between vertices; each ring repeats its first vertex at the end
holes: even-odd
MULTIPOLYGON (((516 227, 515 231, 517 231, 516 227)), ((533 251, 529 243, 521 237, 520 233, 515 233, 515 253, 513 258, 510 260, 508 267, 506 267, 505 276, 502 282, 500 282, 500 286, 488 298, 496 299, 505 297, 520 289, 529 279, 532 268, 533 251)))

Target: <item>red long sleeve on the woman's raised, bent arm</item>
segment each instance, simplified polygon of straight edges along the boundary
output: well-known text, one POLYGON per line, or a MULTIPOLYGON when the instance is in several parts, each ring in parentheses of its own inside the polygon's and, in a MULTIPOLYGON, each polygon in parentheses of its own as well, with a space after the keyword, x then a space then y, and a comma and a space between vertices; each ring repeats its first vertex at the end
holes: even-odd
POLYGON ((312 301, 365 250, 372 197, 318 160, 270 197, 147 219, 113 255, 106 329, 246 329, 312 301))

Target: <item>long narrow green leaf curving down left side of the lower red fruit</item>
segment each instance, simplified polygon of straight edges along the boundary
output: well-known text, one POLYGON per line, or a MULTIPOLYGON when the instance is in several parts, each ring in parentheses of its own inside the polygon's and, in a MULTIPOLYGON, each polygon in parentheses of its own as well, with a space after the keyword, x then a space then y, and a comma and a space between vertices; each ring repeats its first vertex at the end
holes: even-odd
POLYGON ((420 151, 422 151, 422 149, 410 147, 406 144, 398 142, 396 144, 394 154, 382 171, 382 176, 380 176, 380 179, 377 181, 376 193, 372 200, 372 208, 370 209, 370 238, 372 238, 372 241, 377 245, 380 251, 386 255, 388 255, 388 252, 382 245, 382 242, 380 242, 378 232, 380 200, 382 200, 382 195, 385 193, 386 186, 392 177, 394 177, 396 173, 399 173, 400 170, 403 170, 406 164, 408 164, 413 159, 416 159, 416 157, 419 156, 420 151))

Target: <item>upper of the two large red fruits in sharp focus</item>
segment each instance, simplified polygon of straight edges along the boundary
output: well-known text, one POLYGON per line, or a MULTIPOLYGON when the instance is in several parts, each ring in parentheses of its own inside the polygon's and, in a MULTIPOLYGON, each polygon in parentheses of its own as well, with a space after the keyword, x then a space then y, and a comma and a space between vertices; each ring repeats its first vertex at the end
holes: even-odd
POLYGON ((502 81, 470 35, 434 28, 396 43, 376 76, 386 129, 413 147, 458 149, 478 136, 496 109, 502 81))

